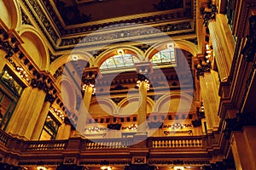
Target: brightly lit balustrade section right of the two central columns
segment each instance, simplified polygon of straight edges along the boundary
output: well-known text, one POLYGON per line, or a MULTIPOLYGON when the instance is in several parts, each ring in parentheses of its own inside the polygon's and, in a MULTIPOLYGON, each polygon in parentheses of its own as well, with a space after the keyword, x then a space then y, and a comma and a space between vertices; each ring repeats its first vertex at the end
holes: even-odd
POLYGON ((203 139, 201 137, 157 137, 148 139, 148 142, 149 147, 153 149, 203 147, 203 139))

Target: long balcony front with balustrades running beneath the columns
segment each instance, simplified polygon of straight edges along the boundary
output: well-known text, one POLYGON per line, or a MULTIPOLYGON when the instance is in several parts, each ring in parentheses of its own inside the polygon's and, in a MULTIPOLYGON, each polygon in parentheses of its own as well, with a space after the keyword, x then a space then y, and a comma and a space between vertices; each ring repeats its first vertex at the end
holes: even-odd
POLYGON ((210 160, 208 136, 149 137, 139 144, 135 138, 26 141, 0 131, 0 157, 19 156, 18 165, 60 165, 75 160, 79 165, 126 165, 133 156, 147 156, 148 162, 164 164, 169 161, 201 162, 210 160), (194 160, 194 161, 193 161, 194 160), (197 160, 197 161, 196 161, 197 160))

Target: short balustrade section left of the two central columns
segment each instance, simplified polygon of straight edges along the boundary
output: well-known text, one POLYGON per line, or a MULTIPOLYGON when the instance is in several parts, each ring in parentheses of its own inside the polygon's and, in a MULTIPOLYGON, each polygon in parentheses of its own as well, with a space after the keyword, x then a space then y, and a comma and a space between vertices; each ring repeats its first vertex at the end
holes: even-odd
POLYGON ((65 150, 67 141, 30 141, 27 150, 65 150))

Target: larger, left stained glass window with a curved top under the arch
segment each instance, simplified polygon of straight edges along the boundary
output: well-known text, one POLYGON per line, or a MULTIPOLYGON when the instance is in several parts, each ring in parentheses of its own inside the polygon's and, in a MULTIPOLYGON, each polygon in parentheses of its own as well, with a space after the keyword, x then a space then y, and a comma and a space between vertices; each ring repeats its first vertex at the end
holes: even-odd
POLYGON ((116 69, 116 68, 124 68, 133 66, 134 63, 139 62, 139 59, 132 55, 132 54, 121 54, 121 55, 114 55, 108 59, 106 59, 100 69, 116 69))

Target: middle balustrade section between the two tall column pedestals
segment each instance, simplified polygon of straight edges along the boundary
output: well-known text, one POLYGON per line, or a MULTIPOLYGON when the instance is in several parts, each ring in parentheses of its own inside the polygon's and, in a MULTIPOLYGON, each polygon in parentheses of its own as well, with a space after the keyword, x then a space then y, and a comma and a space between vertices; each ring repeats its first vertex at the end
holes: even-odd
POLYGON ((93 139, 85 144, 85 150, 125 149, 129 148, 133 139, 93 139))

